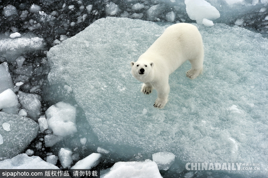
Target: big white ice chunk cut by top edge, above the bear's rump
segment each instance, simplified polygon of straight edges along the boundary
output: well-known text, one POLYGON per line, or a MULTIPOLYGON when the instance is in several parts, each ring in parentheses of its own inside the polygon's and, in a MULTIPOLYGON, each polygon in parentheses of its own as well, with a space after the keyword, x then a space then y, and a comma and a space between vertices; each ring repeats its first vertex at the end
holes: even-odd
POLYGON ((215 20, 220 17, 219 11, 205 0, 185 0, 186 12, 190 19, 202 23, 203 19, 215 20))

